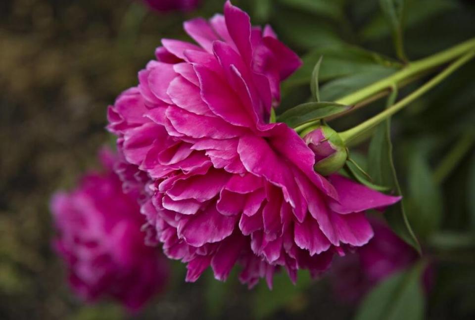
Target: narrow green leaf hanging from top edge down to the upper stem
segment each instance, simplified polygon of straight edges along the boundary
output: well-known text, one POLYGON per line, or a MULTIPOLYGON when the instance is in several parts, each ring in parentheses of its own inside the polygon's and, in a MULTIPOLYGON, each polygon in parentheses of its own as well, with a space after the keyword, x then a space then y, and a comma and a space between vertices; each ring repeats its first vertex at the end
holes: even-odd
POLYGON ((407 58, 404 53, 402 27, 404 0, 380 0, 380 6, 386 20, 391 25, 396 54, 401 60, 406 61, 407 58))

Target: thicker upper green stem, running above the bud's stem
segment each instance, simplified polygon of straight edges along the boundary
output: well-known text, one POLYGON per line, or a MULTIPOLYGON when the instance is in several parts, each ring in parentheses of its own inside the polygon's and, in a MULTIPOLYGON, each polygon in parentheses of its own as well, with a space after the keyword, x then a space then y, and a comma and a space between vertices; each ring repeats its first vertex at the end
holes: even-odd
POLYGON ((393 75, 381 79, 380 81, 369 85, 363 89, 360 89, 356 92, 348 94, 336 100, 335 102, 346 105, 356 104, 379 93, 380 91, 389 88, 392 84, 399 85, 404 80, 411 78, 417 75, 418 73, 424 72, 428 69, 432 69, 434 67, 447 63, 466 53, 467 51, 470 51, 473 48, 475 48, 475 38, 463 42, 457 46, 453 46, 439 53, 428 56, 427 58, 409 63, 404 69, 394 73, 393 75))

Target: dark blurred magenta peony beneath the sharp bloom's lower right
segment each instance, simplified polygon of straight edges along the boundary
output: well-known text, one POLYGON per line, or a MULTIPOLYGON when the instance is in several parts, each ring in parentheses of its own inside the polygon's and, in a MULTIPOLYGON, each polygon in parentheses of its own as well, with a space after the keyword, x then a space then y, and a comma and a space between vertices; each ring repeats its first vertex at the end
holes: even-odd
MULTIPOLYGON (((358 302, 380 281, 412 266, 419 254, 399 238, 385 223, 371 219, 374 237, 370 242, 335 261, 331 284, 335 296, 345 302, 358 302)), ((429 265, 422 282, 426 292, 431 287, 433 268, 429 265)))

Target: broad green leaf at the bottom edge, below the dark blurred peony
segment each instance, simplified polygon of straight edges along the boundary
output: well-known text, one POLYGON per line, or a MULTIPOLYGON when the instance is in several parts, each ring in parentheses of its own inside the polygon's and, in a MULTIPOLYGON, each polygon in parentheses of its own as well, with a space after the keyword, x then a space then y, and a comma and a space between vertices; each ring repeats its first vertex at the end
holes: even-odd
POLYGON ((400 272, 380 282, 363 300, 356 320, 422 320, 424 294, 420 262, 408 271, 400 272))

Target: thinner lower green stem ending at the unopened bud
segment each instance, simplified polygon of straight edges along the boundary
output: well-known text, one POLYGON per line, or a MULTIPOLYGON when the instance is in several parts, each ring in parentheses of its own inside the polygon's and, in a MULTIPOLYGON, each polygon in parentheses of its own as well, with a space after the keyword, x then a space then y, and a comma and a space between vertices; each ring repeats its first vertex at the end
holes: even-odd
MULTIPOLYGON (((373 118, 370 118, 366 120, 365 122, 357 125, 356 127, 353 127, 349 130, 346 130, 342 133, 340 133, 340 137, 343 139, 345 143, 348 143, 352 139, 360 136, 363 134, 365 131, 370 130, 371 128, 375 127, 378 125, 381 121, 387 119, 388 117, 392 116, 402 108, 404 108, 406 105, 429 91, 431 88, 435 87, 438 85, 442 80, 447 78, 450 74, 452 74, 455 70, 457 70, 459 67, 461 67, 463 64, 468 62, 470 59, 472 59, 475 55, 475 50, 470 51, 457 59, 455 62, 450 64, 447 68, 445 68, 442 72, 440 72, 437 76, 429 80, 427 83, 425 83, 422 87, 417 89, 416 91, 412 92, 408 96, 406 96, 404 99, 400 100, 396 104, 394 104, 392 107, 385 109, 381 113, 377 114, 373 118)), ((378 84, 378 83, 377 83, 378 84)), ((390 86, 391 84, 387 84, 387 86, 390 86)), ((371 87, 371 86, 370 86, 371 87)), ((341 103, 340 101, 338 101, 341 103)))

